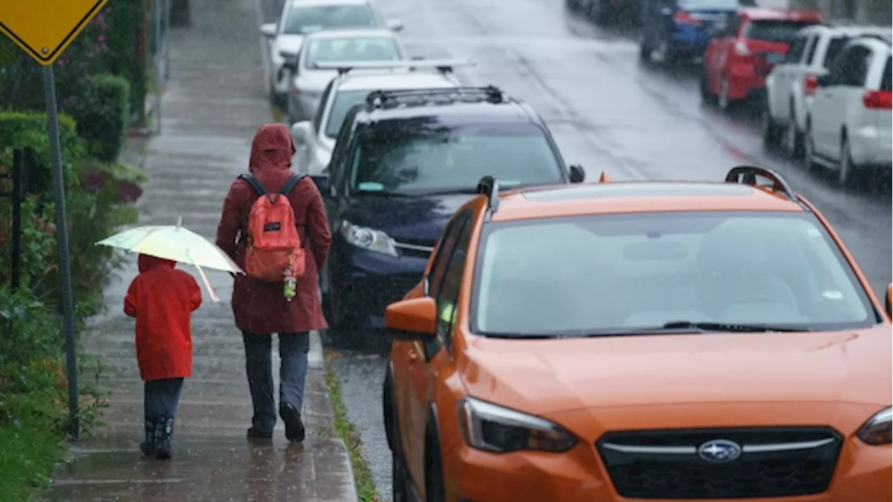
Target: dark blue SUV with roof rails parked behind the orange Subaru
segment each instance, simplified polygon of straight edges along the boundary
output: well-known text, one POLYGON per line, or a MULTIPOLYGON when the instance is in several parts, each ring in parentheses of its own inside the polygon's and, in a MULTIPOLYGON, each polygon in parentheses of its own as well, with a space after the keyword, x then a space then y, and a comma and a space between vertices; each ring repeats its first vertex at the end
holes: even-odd
POLYGON ((333 338, 382 326, 485 175, 505 188, 584 178, 538 113, 495 87, 375 91, 351 109, 328 175, 313 176, 333 236, 320 274, 333 338))

